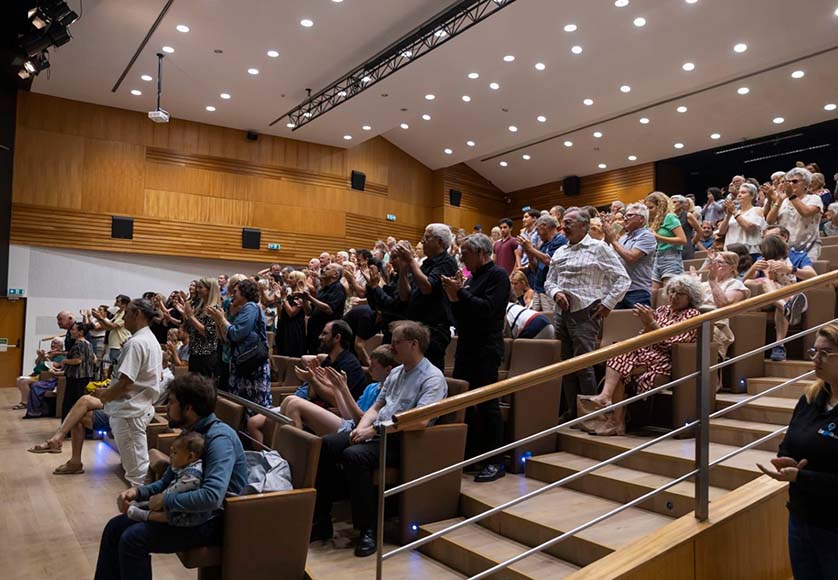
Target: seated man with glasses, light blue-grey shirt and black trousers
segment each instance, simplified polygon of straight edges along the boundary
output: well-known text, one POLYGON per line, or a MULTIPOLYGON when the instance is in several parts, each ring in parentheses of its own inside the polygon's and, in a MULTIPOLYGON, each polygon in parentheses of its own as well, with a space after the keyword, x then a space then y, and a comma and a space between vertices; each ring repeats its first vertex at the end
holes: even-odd
MULTIPOLYGON (((440 401, 448 393, 442 371, 424 356, 430 343, 428 329, 417 322, 402 321, 396 323, 392 332, 390 348, 394 358, 401 364, 384 381, 375 403, 364 413, 355 429, 323 437, 317 469, 317 500, 311 540, 332 538, 331 509, 338 477, 337 467, 341 464, 352 503, 352 520, 355 528, 361 530, 355 546, 355 555, 361 557, 375 553, 377 548, 372 473, 382 459, 394 465, 399 460, 400 447, 394 438, 390 439, 391 444, 387 446, 387 457, 378 456, 379 426, 383 421, 392 420, 398 413, 440 401)), ((416 428, 421 429, 428 424, 430 422, 417 425, 416 428)))

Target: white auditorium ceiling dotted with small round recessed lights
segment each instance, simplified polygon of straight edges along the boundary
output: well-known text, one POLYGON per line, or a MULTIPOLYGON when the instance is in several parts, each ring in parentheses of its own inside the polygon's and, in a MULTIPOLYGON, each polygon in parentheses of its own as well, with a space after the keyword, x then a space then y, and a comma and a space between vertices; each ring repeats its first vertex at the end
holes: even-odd
MULTIPOLYGON (((630 0, 622 8, 613 0, 518 0, 308 125, 293 132, 284 120, 268 127, 304 100, 306 87, 323 88, 450 2, 177 0, 114 94, 111 87, 164 1, 88 0, 72 26, 74 39, 52 55, 50 78, 41 75, 33 90, 148 111, 155 83, 140 75, 156 76, 154 54, 169 45, 175 52, 164 64, 163 107, 173 117, 340 147, 383 135, 434 169, 466 162, 504 191, 597 173, 600 163, 615 169, 838 114, 824 110, 838 103, 838 50, 774 68, 838 44, 836 0, 630 0), (633 24, 639 16, 644 27, 633 24), (314 26, 300 26, 302 18, 314 26), (565 32, 571 23, 577 30, 565 32), (190 31, 177 32, 178 24, 190 31), (735 53, 737 43, 748 49, 735 53), (583 52, 572 54, 573 45, 583 52), (214 54, 216 48, 224 53, 214 54), (280 56, 269 58, 269 49, 280 56), (515 60, 504 62, 504 55, 515 60), (537 71, 536 62, 546 69, 537 71), (685 72, 685 62, 695 70, 685 72), (249 67, 260 74, 249 75, 249 67), (773 70, 756 74, 767 68, 773 70), (805 76, 791 78, 795 70, 805 76), (480 78, 467 78, 469 72, 480 78), (500 89, 491 90, 490 82, 500 89), (620 91, 624 84, 630 92, 620 91), (748 95, 737 94, 742 86, 750 88, 748 95), (143 95, 132 96, 131 89, 143 95), (221 92, 232 98, 220 99, 221 92), (429 93, 433 101, 425 100, 429 93), (681 95, 691 96, 652 106, 681 95), (594 104, 585 106, 585 98, 594 104), (207 112, 207 105, 217 110, 207 112), (676 112, 681 105, 686 113, 676 112), (424 113, 430 121, 421 119, 424 113), (546 122, 538 122, 539 115, 546 122), (647 125, 638 121, 644 116, 647 125), (775 117, 784 123, 773 123, 775 117), (409 129, 399 128, 403 122, 409 129), (594 131, 603 137, 594 138, 594 131), (565 147, 565 140, 573 146, 565 147)), ((77 0, 70 4, 78 8, 77 0)))

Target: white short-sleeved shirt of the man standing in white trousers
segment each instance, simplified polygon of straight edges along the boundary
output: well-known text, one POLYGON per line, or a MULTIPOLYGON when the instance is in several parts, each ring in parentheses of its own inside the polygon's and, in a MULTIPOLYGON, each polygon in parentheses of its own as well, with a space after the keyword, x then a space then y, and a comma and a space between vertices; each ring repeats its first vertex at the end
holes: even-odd
POLYGON ((143 327, 122 345, 117 372, 111 379, 111 385, 123 376, 134 384, 119 399, 105 403, 105 413, 109 417, 143 416, 160 394, 161 368, 163 351, 160 343, 151 329, 143 327))

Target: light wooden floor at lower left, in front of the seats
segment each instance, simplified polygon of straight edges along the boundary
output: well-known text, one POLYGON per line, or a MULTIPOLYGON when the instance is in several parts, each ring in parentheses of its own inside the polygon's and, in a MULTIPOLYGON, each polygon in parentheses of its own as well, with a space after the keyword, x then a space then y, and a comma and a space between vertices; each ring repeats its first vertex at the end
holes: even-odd
MULTIPOLYGON (((116 496, 127 487, 119 456, 86 441, 83 475, 52 475, 70 456, 27 453, 49 437, 57 419, 21 420, 12 411, 17 389, 0 389, 0 577, 4 580, 82 580, 93 577, 99 537, 116 515, 116 496)), ((155 580, 196 578, 175 555, 153 557, 155 580)))

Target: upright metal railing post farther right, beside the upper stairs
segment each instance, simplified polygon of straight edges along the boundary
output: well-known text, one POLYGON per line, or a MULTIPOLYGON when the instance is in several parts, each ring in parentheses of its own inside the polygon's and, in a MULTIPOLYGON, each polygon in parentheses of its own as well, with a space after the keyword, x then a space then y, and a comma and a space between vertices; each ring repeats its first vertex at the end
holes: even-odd
POLYGON ((707 519, 710 503, 710 340, 713 337, 713 323, 702 322, 698 329, 696 344, 696 369, 700 373, 696 382, 695 409, 699 421, 695 432, 695 517, 707 519))

